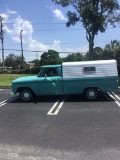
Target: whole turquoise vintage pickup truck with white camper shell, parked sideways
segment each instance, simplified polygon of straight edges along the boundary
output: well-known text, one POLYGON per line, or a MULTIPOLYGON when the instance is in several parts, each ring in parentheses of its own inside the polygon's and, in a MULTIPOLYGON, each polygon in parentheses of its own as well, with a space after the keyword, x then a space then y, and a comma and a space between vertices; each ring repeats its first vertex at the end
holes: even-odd
POLYGON ((30 101, 35 95, 84 94, 94 100, 99 91, 118 90, 116 60, 64 62, 41 67, 37 76, 12 81, 12 93, 30 101))

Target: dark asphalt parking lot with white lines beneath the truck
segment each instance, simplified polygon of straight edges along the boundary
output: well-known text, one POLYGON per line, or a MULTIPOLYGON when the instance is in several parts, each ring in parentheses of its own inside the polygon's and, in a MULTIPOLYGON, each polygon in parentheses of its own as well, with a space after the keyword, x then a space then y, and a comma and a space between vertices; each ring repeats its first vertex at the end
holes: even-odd
POLYGON ((120 93, 36 97, 0 90, 0 160, 120 159, 120 93))

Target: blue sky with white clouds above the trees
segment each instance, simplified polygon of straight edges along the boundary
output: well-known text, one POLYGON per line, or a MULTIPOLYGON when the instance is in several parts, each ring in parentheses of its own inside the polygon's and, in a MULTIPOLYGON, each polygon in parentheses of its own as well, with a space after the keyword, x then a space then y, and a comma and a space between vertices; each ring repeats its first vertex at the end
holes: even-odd
MULTIPOLYGON (((120 0, 118 0, 120 4, 120 0)), ((86 53, 89 48, 86 31, 81 23, 66 27, 67 10, 52 0, 0 0, 0 16, 3 18, 4 58, 13 53, 20 56, 22 31, 23 55, 27 62, 40 59, 49 49, 58 51, 60 57, 73 52, 86 53)), ((104 48, 112 40, 120 40, 120 26, 108 26, 105 33, 98 33, 94 47, 104 48)), ((0 61, 2 51, 0 43, 0 61)))

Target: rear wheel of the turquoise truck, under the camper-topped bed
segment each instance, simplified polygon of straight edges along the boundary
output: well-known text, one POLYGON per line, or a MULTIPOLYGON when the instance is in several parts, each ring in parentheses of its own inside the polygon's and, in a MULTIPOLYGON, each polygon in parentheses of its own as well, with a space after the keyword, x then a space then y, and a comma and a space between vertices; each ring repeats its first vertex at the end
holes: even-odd
POLYGON ((84 94, 88 100, 95 100, 98 97, 98 91, 95 88, 86 89, 84 94))

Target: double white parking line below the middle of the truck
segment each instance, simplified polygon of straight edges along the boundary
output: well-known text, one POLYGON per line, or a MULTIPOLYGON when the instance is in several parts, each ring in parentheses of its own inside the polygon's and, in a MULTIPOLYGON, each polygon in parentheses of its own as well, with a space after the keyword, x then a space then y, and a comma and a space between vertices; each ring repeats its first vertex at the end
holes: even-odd
POLYGON ((65 102, 66 96, 64 97, 64 99, 61 101, 61 103, 59 104, 59 106, 57 107, 57 109, 53 112, 53 110, 55 109, 55 107, 58 105, 58 103, 60 102, 60 99, 58 99, 58 101, 53 105, 53 107, 49 110, 49 112, 47 113, 47 115, 57 115, 58 112, 60 111, 60 109, 62 108, 64 102, 65 102))

